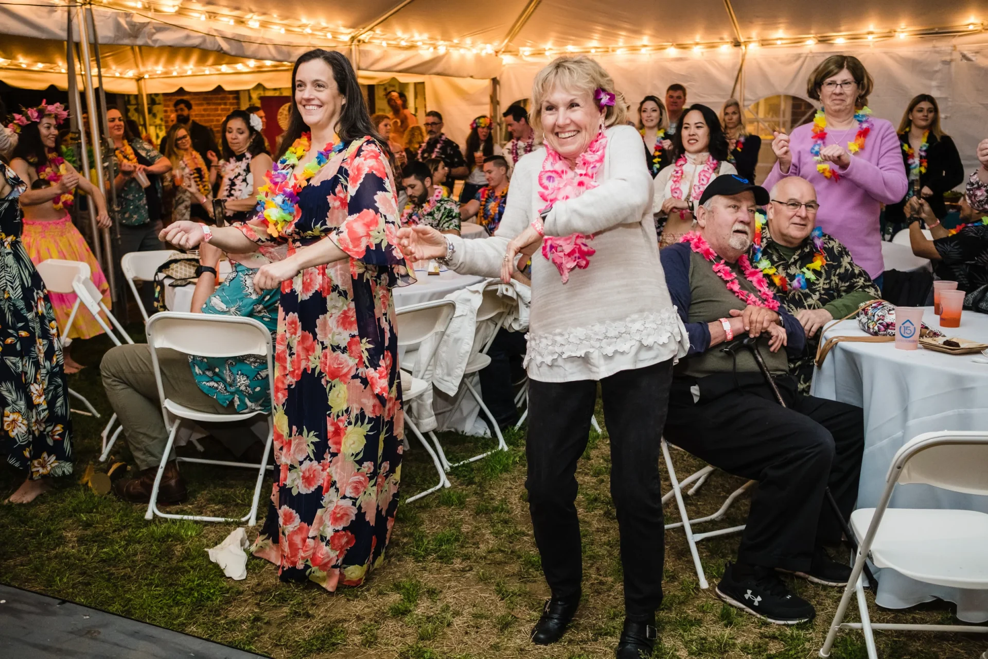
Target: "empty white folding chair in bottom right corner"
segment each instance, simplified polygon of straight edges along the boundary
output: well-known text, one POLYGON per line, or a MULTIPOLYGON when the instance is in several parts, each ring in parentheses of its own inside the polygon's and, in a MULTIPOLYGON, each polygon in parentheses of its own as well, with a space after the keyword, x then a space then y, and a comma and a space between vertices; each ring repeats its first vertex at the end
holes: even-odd
POLYGON ((864 598, 864 561, 910 579, 947 588, 988 590, 988 515, 970 510, 889 508, 896 483, 922 483, 988 496, 988 433, 941 431, 913 438, 892 458, 876 508, 851 514, 858 557, 830 625, 821 657, 829 657, 840 629, 861 629, 869 659, 877 659, 873 630, 988 633, 988 626, 871 622, 864 598), (844 622, 852 593, 861 622, 844 622))

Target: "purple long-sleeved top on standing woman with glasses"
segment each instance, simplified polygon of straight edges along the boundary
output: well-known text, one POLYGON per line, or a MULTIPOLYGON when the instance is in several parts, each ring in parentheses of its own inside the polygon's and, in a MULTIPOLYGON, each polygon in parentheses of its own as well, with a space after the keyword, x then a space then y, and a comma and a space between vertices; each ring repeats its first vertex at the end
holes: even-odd
MULTIPOLYGON (((902 145, 892 124, 883 119, 871 118, 871 130, 864 141, 864 149, 851 156, 847 169, 831 163, 840 181, 826 179, 816 169, 816 162, 810 155, 813 145, 813 124, 803 124, 792 131, 789 137, 789 151, 792 165, 789 173, 779 171, 779 163, 772 168, 769 177, 762 185, 771 190, 785 176, 798 176, 806 179, 816 188, 816 201, 820 210, 816 223, 851 251, 855 263, 864 268, 871 279, 885 270, 881 259, 881 229, 878 219, 880 204, 895 204, 906 195, 909 183, 902 167, 902 145)), ((843 131, 839 131, 843 132, 843 131)), ((857 129, 852 129, 841 144, 855 137, 857 129)), ((838 143, 831 134, 824 140, 825 145, 838 143)))

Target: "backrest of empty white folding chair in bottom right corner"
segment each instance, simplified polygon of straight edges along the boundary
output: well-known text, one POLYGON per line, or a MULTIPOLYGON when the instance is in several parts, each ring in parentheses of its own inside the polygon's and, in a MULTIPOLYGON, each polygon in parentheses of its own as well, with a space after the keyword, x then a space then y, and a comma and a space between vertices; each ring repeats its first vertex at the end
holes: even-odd
POLYGON ((988 432, 926 433, 902 447, 889 478, 964 494, 988 495, 988 432), (897 468, 898 467, 898 468, 897 468))

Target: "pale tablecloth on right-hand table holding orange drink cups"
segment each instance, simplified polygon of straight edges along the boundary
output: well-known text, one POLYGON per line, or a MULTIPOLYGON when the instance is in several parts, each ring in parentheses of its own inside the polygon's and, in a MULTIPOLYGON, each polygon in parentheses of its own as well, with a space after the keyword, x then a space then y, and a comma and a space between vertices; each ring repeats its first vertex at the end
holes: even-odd
MULTIPOLYGON (((933 307, 926 307, 923 320, 941 329, 933 307)), ((947 336, 988 343, 988 315, 964 311, 960 327, 943 331, 947 336)), ((864 332, 858 329, 857 321, 846 320, 822 340, 837 335, 864 336, 864 332)), ((813 378, 812 394, 864 409, 860 508, 873 508, 878 503, 892 456, 912 438, 939 430, 988 429, 988 364, 973 362, 972 357, 923 348, 896 350, 894 343, 840 343, 827 356, 813 378)), ((928 485, 899 485, 890 506, 988 513, 988 497, 928 485)), ((879 579, 879 606, 902 609, 940 598, 955 603, 957 617, 962 620, 988 620, 988 593, 984 591, 931 586, 887 569, 881 570, 879 579)))

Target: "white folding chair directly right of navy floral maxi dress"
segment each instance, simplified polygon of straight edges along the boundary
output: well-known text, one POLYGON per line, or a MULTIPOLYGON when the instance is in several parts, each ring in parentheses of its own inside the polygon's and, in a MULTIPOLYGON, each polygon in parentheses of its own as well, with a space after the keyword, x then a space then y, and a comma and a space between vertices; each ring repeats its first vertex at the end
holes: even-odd
MULTIPOLYGON (((443 335, 446 334, 446 330, 450 326, 450 321, 453 320, 453 313, 455 311, 456 303, 450 299, 438 299, 432 302, 411 304, 398 309, 395 314, 398 347, 415 346, 426 342, 425 347, 418 350, 415 359, 416 361, 424 360, 421 364, 428 367, 436 357, 436 348, 439 347, 439 342, 443 340, 443 335)), ((405 426, 415 434, 415 437, 419 438, 419 442, 425 447, 426 453, 429 453, 429 456, 433 458, 433 464, 439 473, 439 485, 430 487, 424 492, 419 492, 405 499, 406 503, 411 503, 444 487, 450 487, 451 483, 446 477, 446 471, 443 469, 443 463, 440 462, 439 456, 429 446, 429 443, 426 442, 426 438, 423 437, 422 432, 419 431, 415 422, 412 421, 411 415, 408 413, 408 402, 428 391, 432 384, 424 379, 413 377, 411 372, 402 370, 400 365, 399 371, 401 373, 401 399, 405 406, 405 426)), ((429 437, 438 449, 439 439, 436 437, 436 433, 429 431, 429 437)), ((407 438, 405 439, 405 447, 408 447, 407 438)))

